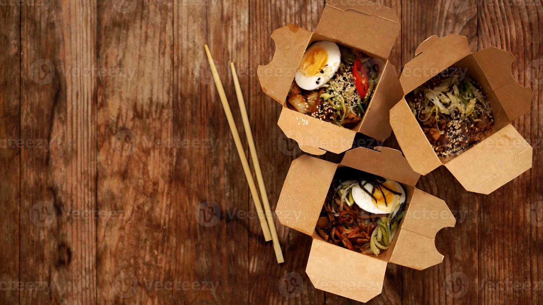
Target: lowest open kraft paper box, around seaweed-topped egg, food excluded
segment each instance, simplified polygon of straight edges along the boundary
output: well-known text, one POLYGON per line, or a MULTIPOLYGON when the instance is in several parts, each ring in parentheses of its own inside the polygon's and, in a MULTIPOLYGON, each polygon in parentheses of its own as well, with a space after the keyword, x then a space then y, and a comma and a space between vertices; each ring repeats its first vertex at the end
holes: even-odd
POLYGON ((281 224, 313 237, 306 273, 315 288, 367 302, 381 293, 387 263, 422 270, 443 261, 434 238, 456 219, 445 202, 414 186, 415 173, 392 148, 364 147, 347 151, 341 163, 302 155, 292 162, 277 202, 281 224), (378 151, 376 151, 378 150, 378 151), (393 179, 406 190, 407 210, 389 249, 379 256, 365 255, 324 241, 315 225, 334 173, 339 167, 393 179), (300 182, 301 181, 301 182, 300 182), (300 186, 302 184, 302 186, 300 186))

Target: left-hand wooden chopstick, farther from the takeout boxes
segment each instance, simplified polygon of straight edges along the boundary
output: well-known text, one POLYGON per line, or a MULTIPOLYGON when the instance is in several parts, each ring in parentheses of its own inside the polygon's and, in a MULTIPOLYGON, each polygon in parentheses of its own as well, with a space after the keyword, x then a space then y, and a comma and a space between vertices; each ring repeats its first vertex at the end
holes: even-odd
POLYGON ((255 180, 252 179, 251 171, 249 170, 249 162, 247 161, 247 156, 243 151, 243 146, 241 140, 239 139, 239 134, 237 132, 236 124, 234 123, 234 118, 232 112, 230 111, 230 106, 228 105, 228 100, 226 100, 226 94, 224 93, 223 83, 220 82, 219 73, 217 68, 213 63, 213 58, 207 44, 204 45, 205 53, 207 54, 207 60, 211 67, 211 74, 213 74, 213 79, 215 81, 215 86, 217 87, 217 92, 219 93, 220 102, 223 104, 224 114, 226 114, 226 120, 228 120, 228 125, 230 126, 230 131, 232 132, 232 137, 236 143, 236 149, 239 154, 239 159, 241 160, 241 165, 243 166, 243 171, 245 172, 245 178, 247 178, 247 183, 249 184, 249 190, 251 191, 252 200, 255 202, 255 209, 260 219, 260 226, 262 227, 262 232, 264 233, 264 239, 268 242, 271 240, 270 230, 268 228, 268 223, 266 222, 266 217, 264 216, 264 211, 262 210, 262 205, 260 204, 260 199, 258 199, 258 193, 256 191, 255 180))

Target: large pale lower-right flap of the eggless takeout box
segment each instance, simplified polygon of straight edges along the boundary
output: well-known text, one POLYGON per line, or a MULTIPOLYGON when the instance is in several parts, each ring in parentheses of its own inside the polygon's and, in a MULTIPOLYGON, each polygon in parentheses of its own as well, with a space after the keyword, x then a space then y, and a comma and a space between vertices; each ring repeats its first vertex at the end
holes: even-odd
POLYGON ((445 166, 466 190, 489 194, 531 168, 532 151, 509 124, 445 166))

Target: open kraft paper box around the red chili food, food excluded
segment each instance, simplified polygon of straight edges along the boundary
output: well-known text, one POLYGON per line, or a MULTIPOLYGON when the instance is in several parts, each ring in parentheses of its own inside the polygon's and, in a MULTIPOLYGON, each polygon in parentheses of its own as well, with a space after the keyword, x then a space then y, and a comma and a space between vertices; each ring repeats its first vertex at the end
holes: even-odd
POLYGON ((395 11, 365 0, 349 3, 330 1, 326 4, 315 32, 294 24, 275 30, 271 34, 275 42, 273 60, 258 67, 263 92, 283 106, 277 125, 307 153, 342 153, 352 147, 357 132, 384 141, 392 131, 389 110, 402 97, 395 68, 387 60, 400 32, 395 11), (367 112, 352 129, 327 124, 287 106, 287 95, 305 50, 313 42, 322 40, 361 50, 378 62, 377 86, 367 112), (304 118, 309 124, 298 125, 300 121, 296 118, 304 118))

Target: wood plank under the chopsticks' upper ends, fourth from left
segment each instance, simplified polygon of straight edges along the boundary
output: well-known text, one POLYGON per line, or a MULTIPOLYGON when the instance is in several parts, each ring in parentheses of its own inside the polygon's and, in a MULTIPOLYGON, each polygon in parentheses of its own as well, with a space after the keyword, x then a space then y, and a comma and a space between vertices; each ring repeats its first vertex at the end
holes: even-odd
POLYGON ((257 258, 250 258, 247 245, 262 230, 248 225, 254 215, 247 180, 204 52, 207 43, 246 143, 229 64, 235 64, 247 94, 243 73, 248 62, 248 3, 206 3, 174 11, 174 137, 196 144, 176 150, 174 156, 179 243, 173 267, 185 281, 214 282, 218 287, 174 291, 174 297, 186 303, 248 303, 249 268, 257 258), (193 142, 201 140, 210 145, 193 142))

